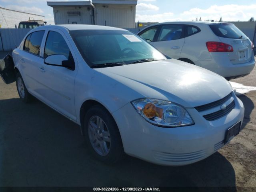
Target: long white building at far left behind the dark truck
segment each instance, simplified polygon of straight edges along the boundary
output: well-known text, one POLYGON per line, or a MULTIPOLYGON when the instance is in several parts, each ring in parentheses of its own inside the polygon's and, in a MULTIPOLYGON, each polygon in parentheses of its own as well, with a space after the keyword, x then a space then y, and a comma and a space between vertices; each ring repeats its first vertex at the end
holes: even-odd
POLYGON ((43 20, 44 21, 44 16, 10 10, 10 9, 0 7, 1 28, 8 28, 8 27, 15 28, 15 24, 17 24, 17 27, 18 27, 18 24, 21 21, 28 21, 28 20, 43 20))

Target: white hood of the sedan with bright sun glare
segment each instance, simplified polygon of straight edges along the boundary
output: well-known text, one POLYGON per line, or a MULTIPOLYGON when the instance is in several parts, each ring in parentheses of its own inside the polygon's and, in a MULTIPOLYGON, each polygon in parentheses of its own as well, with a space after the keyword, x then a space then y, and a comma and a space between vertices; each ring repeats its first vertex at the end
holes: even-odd
POLYGON ((190 108, 219 100, 232 91, 222 76, 175 59, 95 70, 138 93, 126 92, 130 101, 138 97, 156 98, 190 108))

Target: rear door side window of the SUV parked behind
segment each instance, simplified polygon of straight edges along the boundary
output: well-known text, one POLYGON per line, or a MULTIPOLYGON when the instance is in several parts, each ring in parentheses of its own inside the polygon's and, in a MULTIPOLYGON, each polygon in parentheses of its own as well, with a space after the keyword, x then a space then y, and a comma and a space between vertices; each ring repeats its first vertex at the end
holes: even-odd
POLYGON ((164 25, 158 36, 158 41, 170 41, 183 38, 182 25, 164 25))

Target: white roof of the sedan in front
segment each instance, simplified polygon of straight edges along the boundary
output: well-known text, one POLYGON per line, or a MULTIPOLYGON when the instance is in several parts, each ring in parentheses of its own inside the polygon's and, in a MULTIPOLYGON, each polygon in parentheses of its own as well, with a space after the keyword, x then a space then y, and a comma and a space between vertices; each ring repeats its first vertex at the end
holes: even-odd
POLYGON ((47 29, 47 28, 56 28, 56 29, 65 29, 65 30, 124 30, 121 28, 116 27, 109 27, 109 26, 100 26, 100 25, 83 25, 83 24, 65 24, 65 25, 45 25, 40 26, 37 29, 47 29))

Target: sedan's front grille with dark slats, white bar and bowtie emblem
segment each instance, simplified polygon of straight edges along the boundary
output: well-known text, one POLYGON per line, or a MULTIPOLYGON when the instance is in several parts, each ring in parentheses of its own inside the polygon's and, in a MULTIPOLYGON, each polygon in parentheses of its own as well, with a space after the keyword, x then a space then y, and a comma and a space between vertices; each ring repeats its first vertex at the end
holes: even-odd
POLYGON ((209 104, 196 106, 195 109, 208 121, 214 121, 228 114, 235 107, 232 92, 224 98, 209 104), (224 107, 223 107, 224 105, 224 107), (222 108, 223 107, 223 108, 222 108))

